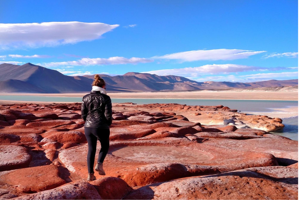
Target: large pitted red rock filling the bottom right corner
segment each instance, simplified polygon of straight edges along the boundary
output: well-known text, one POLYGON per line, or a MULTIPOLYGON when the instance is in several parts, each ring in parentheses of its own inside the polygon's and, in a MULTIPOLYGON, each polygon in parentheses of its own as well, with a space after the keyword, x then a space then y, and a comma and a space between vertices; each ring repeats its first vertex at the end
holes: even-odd
POLYGON ((256 167, 147 185, 123 200, 298 199, 298 170, 256 167))

